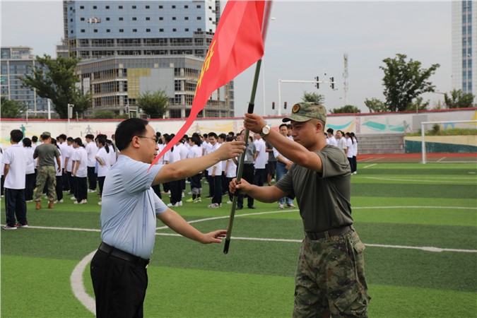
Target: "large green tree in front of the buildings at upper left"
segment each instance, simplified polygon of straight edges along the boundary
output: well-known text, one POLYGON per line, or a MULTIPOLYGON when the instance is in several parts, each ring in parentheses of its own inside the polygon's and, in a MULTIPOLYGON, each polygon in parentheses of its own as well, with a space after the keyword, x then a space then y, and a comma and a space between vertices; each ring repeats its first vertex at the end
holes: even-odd
POLYGON ((73 112, 83 114, 90 107, 92 97, 90 93, 83 95, 76 87, 80 81, 74 73, 78 60, 52 59, 47 54, 36 59, 38 66, 33 68, 32 75, 25 75, 23 85, 32 90, 35 88, 38 96, 52 100, 60 118, 68 118, 68 104, 74 105, 73 112))

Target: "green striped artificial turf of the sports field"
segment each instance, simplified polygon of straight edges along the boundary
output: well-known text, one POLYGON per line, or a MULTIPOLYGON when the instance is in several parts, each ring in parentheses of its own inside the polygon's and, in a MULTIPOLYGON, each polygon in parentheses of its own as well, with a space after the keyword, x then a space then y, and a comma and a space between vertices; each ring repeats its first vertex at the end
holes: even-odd
MULTIPOLYGON (((351 204, 367 245, 371 317, 475 317, 476 172, 474 164, 358 165, 351 204)), ((88 204, 73 204, 67 196, 64 201, 40 211, 29 203, 30 228, 1 231, 1 317, 93 317, 73 295, 69 277, 100 244, 101 207, 95 194, 88 194, 88 204)), ((208 232, 227 228, 226 201, 223 196, 218 209, 207 208, 205 198, 184 201, 175 210, 208 232)), ((300 214, 277 204, 255 206, 236 212, 227 255, 223 245, 162 235, 172 231, 158 221, 146 317, 290 317, 300 214)), ((93 297, 88 266, 83 282, 93 297)))

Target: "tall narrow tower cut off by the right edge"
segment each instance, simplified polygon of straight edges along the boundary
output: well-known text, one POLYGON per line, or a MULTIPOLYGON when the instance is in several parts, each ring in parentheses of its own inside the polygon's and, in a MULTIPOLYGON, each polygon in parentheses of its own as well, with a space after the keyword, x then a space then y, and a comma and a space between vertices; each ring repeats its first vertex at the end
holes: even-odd
POLYGON ((477 95, 476 1, 452 1, 452 88, 477 95))

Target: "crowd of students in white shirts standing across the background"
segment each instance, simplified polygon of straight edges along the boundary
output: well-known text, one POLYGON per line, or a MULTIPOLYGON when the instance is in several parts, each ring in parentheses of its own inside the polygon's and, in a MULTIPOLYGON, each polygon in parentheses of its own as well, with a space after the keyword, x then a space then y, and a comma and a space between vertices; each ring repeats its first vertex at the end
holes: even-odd
MULTIPOLYGON (((291 136, 291 125, 281 124, 279 132, 283 136, 287 136, 293 140, 291 136)), ((44 133, 45 134, 45 133, 44 133)), ((41 158, 34 158, 35 148, 42 143, 42 138, 49 138, 47 135, 41 135, 40 140, 37 136, 32 139, 23 138, 23 133, 19 130, 11 132, 12 150, 6 150, 4 154, 0 148, 1 162, 1 195, 4 196, 4 181, 7 191, 12 192, 15 189, 15 196, 8 196, 6 200, 6 213, 17 215, 18 223, 7 224, 7 229, 15 229, 20 226, 28 226, 26 221, 26 204, 25 202, 36 201, 36 208, 40 209, 40 199, 34 197, 34 189, 42 188, 42 193, 46 194, 49 199, 49 208, 54 207, 54 203, 64 202, 65 196, 74 200, 74 204, 88 204, 88 193, 97 193, 101 197, 102 187, 105 182, 107 171, 114 163, 116 163, 119 151, 114 145, 114 134, 108 139, 105 134, 88 134, 85 136, 85 142, 81 138, 73 139, 60 134, 56 139, 51 139, 52 145, 57 147, 59 152, 59 160, 54 161, 55 179, 51 182, 39 182, 37 178, 37 167, 41 158), (16 144, 14 140, 18 140, 16 144), (20 147, 23 146, 23 147, 20 147), (17 154, 15 163, 12 162, 13 151, 17 154), (1 158, 3 156, 4 158, 1 158), (8 165, 9 173, 4 177, 4 165, 8 165), (12 180, 15 180, 14 182, 12 180), (54 190, 48 187, 48 184, 54 184, 54 190), (99 187, 97 191, 97 185, 99 187), (53 192, 55 195, 50 194, 53 192), (64 196, 64 192, 66 195, 64 196), (52 199, 54 198, 54 199, 52 199), (54 200, 54 201, 53 201, 54 200), (12 202, 13 201, 13 202, 12 202), (23 202, 22 202, 23 201, 23 202), (24 211, 24 212, 23 212, 24 211), (23 217, 25 215, 25 217, 23 217), (21 219, 21 221, 20 221, 21 219)), ((169 143, 174 134, 156 134, 156 143, 160 153, 165 145, 169 143)), ((228 134, 217 135, 214 132, 208 134, 194 133, 192 136, 185 135, 177 142, 169 151, 163 155, 158 164, 167 165, 175 163, 185 158, 197 158, 208 153, 216 151, 220 145, 228 141, 245 139, 245 131, 235 134, 230 131, 228 134)), ((352 132, 336 131, 334 135, 333 129, 327 130, 326 141, 331 146, 341 148, 347 155, 351 165, 351 171, 356 174, 356 154, 358 152, 358 140, 352 132)), ((284 177, 288 169, 293 163, 278 153, 269 143, 261 138, 260 134, 249 136, 249 142, 245 153, 242 170, 242 178, 249 183, 263 186, 271 185, 272 182, 278 182, 284 177)), ((241 155, 241 156, 242 156, 241 155)), ((211 199, 208 208, 220 208, 223 203, 223 196, 227 198, 226 203, 232 204, 233 196, 228 192, 228 184, 232 178, 237 176, 237 165, 240 163, 241 156, 222 162, 209 167, 202 173, 193 177, 153 187, 154 192, 163 199, 163 195, 170 196, 170 203, 167 206, 182 206, 185 194, 191 194, 192 197, 185 199, 187 203, 198 204, 204 199, 202 197, 202 182, 208 182, 208 193, 206 199, 211 199), (186 184, 190 184, 190 191, 187 191, 186 184), (162 187, 162 189, 161 189, 162 187)), ((40 156, 41 157, 41 156, 40 156)), ((254 209, 254 199, 249 196, 239 195, 237 200, 237 209, 244 208, 244 199, 247 199, 247 208, 254 209)), ((166 200, 164 200, 166 201, 166 200)), ((289 197, 278 200, 278 208, 295 208, 293 199, 289 197)), ((102 204, 101 200, 98 202, 102 204)), ((10 217, 11 219, 11 217, 10 217)))

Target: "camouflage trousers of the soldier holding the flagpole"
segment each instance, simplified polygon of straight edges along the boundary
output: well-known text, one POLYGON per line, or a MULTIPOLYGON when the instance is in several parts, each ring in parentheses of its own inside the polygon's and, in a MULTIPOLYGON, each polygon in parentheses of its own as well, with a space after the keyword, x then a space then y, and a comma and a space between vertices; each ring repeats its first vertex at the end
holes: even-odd
POLYGON ((351 231, 305 238, 295 273, 293 317, 367 317, 365 245, 351 231))

